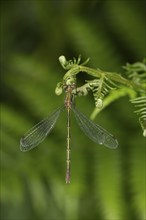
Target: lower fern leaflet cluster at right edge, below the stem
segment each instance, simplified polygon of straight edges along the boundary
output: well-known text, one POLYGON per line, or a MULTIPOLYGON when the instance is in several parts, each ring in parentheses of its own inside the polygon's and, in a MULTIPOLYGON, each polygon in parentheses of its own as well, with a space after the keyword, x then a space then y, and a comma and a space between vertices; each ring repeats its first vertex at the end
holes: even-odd
POLYGON ((139 115, 139 123, 143 130, 143 136, 146 137, 146 96, 137 97, 131 100, 138 110, 134 111, 139 115))

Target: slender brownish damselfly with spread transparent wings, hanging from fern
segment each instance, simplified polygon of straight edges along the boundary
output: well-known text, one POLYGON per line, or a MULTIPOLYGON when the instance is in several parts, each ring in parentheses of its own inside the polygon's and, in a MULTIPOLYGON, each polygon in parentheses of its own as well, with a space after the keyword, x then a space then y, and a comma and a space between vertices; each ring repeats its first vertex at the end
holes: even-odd
POLYGON ((66 183, 70 183, 70 148, 71 148, 71 137, 70 137, 70 114, 73 111, 76 121, 81 128, 81 130, 88 136, 92 141, 98 144, 103 144, 108 148, 115 149, 118 146, 118 141, 114 138, 112 134, 106 131, 101 126, 95 124, 87 116, 81 113, 74 104, 74 94, 75 83, 71 85, 64 86, 66 92, 66 97, 64 105, 56 109, 51 116, 40 121, 34 127, 32 127, 20 140, 20 149, 25 152, 31 150, 32 148, 39 145, 46 136, 51 132, 60 113, 66 109, 67 110, 67 146, 66 146, 66 183))

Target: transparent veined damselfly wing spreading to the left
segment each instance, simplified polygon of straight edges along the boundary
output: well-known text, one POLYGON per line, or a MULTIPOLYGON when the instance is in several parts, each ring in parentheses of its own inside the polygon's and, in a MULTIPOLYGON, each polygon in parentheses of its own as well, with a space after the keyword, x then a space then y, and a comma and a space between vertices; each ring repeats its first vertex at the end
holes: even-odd
POLYGON ((20 140, 20 150, 28 151, 39 145, 51 132, 64 106, 59 107, 52 115, 32 127, 20 140))

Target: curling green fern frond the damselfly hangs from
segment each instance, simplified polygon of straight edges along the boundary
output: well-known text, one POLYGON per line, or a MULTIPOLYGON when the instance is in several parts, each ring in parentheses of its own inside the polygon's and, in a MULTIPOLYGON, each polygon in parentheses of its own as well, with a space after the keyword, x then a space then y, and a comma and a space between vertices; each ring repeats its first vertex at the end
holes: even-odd
POLYGON ((145 63, 136 62, 134 64, 127 64, 124 68, 128 73, 128 78, 130 80, 124 78, 118 73, 110 73, 104 72, 100 69, 91 69, 88 67, 84 67, 83 64, 87 64, 87 59, 83 64, 80 64, 81 56, 76 60, 67 61, 64 56, 59 57, 59 61, 62 67, 67 71, 67 73, 63 77, 63 81, 59 82, 56 87, 56 94, 61 95, 64 85, 72 85, 77 84, 76 75, 80 72, 86 72, 87 74, 96 77, 97 79, 93 80, 85 80, 85 84, 81 87, 77 87, 75 91, 73 90, 72 93, 75 95, 87 95, 88 92, 91 90, 95 100, 95 106, 97 110, 95 110, 94 114, 92 114, 92 119, 99 113, 98 108, 103 107, 104 97, 107 96, 106 99, 106 106, 109 105, 111 102, 115 101, 115 99, 121 97, 121 89, 122 95, 130 94, 130 96, 138 96, 140 97, 131 99, 131 103, 138 104, 136 107, 140 109, 135 111, 139 117, 139 122, 141 124, 143 130, 143 136, 146 136, 146 65, 145 63), (111 80, 112 79, 112 80, 111 80), (121 85, 119 85, 119 83, 121 85), (127 87, 123 87, 123 85, 127 85, 127 87), (110 92, 113 89, 120 88, 116 90, 116 92, 110 92), (131 92, 129 90, 131 89, 131 92), (60 91, 60 92, 58 92, 60 91), (115 98, 116 93, 116 98, 115 98), (140 94, 139 94, 140 93, 140 94), (107 101, 108 100, 108 101, 107 101))

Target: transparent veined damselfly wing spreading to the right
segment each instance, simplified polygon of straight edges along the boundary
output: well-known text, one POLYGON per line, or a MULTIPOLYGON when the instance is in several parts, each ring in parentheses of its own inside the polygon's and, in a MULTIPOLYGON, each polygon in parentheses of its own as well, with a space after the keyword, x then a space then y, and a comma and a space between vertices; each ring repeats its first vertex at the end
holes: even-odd
POLYGON ((87 135, 88 138, 90 138, 95 143, 103 144, 108 148, 117 148, 118 141, 112 134, 110 134, 101 126, 95 124, 74 106, 72 107, 72 110, 81 130, 85 135, 87 135))

